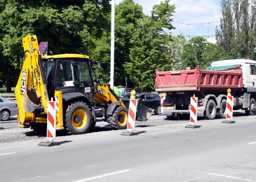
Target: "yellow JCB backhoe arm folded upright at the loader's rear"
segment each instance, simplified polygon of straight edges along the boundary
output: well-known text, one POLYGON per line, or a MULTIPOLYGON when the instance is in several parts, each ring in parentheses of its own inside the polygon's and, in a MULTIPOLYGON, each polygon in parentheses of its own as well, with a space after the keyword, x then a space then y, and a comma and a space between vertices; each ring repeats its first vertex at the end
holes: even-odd
POLYGON ((18 102, 19 124, 31 123, 35 113, 47 114, 48 94, 45 71, 36 36, 22 39, 24 54, 20 66, 21 74, 15 88, 18 102))

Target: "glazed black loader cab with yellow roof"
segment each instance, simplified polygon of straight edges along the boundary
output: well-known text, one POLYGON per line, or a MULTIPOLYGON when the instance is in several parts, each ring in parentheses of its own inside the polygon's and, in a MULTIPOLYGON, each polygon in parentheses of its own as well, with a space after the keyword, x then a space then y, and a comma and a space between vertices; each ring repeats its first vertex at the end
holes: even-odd
POLYGON ((94 85, 88 56, 80 54, 43 56, 43 66, 49 98, 54 97, 55 90, 70 96, 72 92, 80 92, 92 102, 94 85))

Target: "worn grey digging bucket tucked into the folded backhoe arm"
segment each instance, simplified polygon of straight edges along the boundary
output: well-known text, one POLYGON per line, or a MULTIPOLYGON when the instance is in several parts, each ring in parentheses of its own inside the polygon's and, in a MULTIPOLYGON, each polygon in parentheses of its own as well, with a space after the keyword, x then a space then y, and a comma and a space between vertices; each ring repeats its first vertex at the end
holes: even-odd
POLYGON ((27 113, 40 113, 42 111, 41 102, 40 99, 37 98, 35 89, 28 89, 27 92, 25 88, 22 105, 27 113))

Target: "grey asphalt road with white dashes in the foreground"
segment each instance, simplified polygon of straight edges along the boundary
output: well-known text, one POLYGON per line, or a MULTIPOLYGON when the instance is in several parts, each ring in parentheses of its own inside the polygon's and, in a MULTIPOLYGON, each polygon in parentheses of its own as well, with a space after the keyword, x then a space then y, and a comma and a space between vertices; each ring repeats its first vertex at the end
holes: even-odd
POLYGON ((256 119, 235 117, 0 144, 4 182, 256 181, 256 119), (222 119, 223 120, 223 119, 222 119))

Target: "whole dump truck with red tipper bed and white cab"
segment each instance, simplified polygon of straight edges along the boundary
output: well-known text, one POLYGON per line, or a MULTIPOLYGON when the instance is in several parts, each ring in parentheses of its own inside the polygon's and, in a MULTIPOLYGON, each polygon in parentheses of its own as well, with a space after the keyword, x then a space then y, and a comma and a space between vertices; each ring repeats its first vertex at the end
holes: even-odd
POLYGON ((177 120, 181 114, 190 113, 190 97, 198 97, 197 116, 205 119, 226 118, 227 89, 234 96, 233 109, 245 110, 247 115, 256 114, 256 61, 215 61, 211 67, 239 65, 239 69, 226 71, 156 70, 156 92, 166 93, 163 116, 177 120))

